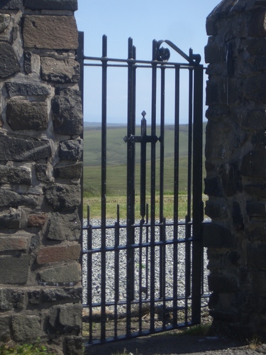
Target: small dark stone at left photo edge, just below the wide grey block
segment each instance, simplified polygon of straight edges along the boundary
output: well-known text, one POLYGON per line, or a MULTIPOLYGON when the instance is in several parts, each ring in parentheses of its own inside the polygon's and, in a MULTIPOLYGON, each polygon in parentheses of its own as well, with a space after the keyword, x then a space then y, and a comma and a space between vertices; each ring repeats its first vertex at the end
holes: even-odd
POLYGON ((0 310, 22 310, 25 293, 12 288, 0 288, 0 310))

